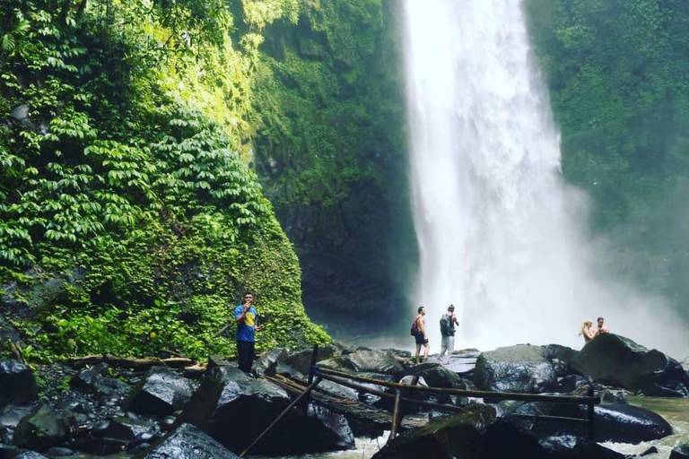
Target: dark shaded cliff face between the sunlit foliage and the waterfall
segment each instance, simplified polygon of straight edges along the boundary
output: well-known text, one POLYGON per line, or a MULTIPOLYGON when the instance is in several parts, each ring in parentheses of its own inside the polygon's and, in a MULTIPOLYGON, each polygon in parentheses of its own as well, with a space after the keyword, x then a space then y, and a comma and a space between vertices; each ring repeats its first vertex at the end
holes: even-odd
POLYGON ((403 309, 414 264, 399 8, 312 3, 259 48, 256 169, 300 257, 307 312, 330 329, 403 309))

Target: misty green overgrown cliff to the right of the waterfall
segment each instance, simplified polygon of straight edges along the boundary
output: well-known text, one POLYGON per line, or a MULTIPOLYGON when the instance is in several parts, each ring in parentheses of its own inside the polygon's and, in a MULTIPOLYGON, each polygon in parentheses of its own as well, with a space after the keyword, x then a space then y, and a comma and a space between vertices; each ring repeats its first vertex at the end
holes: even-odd
POLYGON ((689 318, 689 4, 527 0, 562 131, 563 174, 591 196, 613 269, 689 318))

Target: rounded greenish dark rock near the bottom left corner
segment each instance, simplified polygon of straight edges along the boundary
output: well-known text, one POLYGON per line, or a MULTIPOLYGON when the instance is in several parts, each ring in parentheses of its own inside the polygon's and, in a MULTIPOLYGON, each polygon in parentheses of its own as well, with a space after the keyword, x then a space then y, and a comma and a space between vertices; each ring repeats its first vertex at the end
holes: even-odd
POLYGON ((14 443, 27 449, 46 451, 50 446, 65 441, 68 435, 69 422, 48 405, 41 405, 19 422, 14 432, 14 443))

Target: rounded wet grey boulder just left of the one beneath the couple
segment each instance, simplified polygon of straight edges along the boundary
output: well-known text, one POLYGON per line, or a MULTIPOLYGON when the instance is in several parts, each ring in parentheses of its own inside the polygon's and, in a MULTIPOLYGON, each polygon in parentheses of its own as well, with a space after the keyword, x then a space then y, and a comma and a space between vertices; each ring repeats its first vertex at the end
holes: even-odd
POLYGON ((474 381, 489 391, 540 394, 552 391, 557 377, 543 347, 519 344, 478 356, 474 381))

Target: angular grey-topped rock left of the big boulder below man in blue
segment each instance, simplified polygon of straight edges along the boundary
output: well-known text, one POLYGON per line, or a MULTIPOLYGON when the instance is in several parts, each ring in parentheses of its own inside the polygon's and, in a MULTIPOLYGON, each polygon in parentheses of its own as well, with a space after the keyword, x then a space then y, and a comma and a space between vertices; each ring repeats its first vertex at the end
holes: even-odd
POLYGON ((191 382, 168 368, 153 367, 135 386, 125 410, 168 416, 184 408, 194 392, 191 382))

